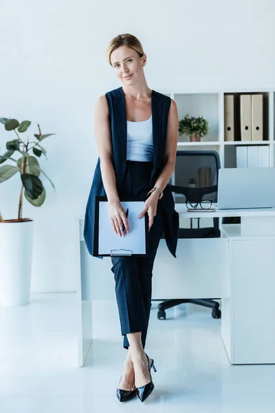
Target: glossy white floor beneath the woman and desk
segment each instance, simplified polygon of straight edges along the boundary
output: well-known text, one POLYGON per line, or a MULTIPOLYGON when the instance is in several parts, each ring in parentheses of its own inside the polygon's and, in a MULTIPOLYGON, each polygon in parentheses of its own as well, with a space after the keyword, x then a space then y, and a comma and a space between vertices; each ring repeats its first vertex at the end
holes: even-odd
POLYGON ((76 367, 75 294, 0 306, 0 412, 275 412, 275 366, 231 366, 210 309, 186 304, 163 321, 157 304, 146 343, 155 390, 144 403, 115 398, 126 355, 115 301, 93 303, 95 339, 84 368, 76 367))

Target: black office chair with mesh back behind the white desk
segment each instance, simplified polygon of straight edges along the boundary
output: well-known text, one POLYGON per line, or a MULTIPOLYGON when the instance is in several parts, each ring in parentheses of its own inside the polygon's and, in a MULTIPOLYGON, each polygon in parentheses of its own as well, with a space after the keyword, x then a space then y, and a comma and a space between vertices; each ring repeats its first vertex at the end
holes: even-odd
MULTIPOLYGON (((175 184, 170 184, 170 189, 174 193, 184 196, 177 197, 176 202, 200 202, 201 200, 217 202, 218 170, 220 167, 219 153, 216 151, 177 151, 175 184)), ((213 226, 208 228, 199 228, 199 218, 195 218, 198 220, 198 228, 193 228, 192 219, 194 218, 190 218, 190 229, 179 229, 179 238, 221 236, 219 218, 213 218, 213 226)), ((219 303, 213 301, 214 299, 219 298, 168 299, 158 305, 157 318, 166 319, 165 310, 182 303, 192 303, 212 308, 212 317, 221 318, 219 303)))

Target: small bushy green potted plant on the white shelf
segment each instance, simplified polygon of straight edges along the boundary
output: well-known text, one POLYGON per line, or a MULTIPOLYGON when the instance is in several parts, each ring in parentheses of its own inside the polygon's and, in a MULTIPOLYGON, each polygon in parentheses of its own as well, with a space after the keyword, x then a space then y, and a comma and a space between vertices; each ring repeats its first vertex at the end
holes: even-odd
POLYGON ((184 119, 179 120, 179 134, 188 135, 190 142, 200 142, 201 137, 208 134, 209 123, 203 116, 195 118, 186 114, 184 119))

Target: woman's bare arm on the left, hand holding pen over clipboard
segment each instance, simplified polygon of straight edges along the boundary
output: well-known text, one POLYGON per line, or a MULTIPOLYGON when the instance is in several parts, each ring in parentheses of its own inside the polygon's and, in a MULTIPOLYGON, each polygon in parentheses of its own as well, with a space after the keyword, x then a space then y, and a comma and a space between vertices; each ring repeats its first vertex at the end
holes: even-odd
POLYGON ((118 190, 115 181, 115 171, 113 169, 111 130, 109 125, 109 107, 105 95, 96 101, 94 110, 94 130, 96 135, 96 145, 100 157, 100 170, 102 182, 109 204, 109 215, 113 231, 118 235, 123 235, 122 224, 125 230, 129 231, 129 224, 124 209, 120 204, 118 190))

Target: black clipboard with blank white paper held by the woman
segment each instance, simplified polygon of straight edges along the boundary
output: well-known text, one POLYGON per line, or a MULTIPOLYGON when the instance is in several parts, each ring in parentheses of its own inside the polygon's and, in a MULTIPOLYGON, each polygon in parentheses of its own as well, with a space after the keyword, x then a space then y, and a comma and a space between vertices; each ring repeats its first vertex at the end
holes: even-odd
POLYGON ((113 232, 109 218, 107 196, 96 196, 94 226, 94 256, 136 256, 144 257, 148 251, 148 214, 137 218, 142 211, 146 197, 121 196, 124 211, 129 209, 129 233, 120 237, 113 232))

